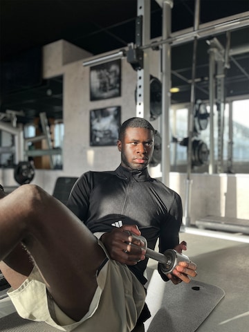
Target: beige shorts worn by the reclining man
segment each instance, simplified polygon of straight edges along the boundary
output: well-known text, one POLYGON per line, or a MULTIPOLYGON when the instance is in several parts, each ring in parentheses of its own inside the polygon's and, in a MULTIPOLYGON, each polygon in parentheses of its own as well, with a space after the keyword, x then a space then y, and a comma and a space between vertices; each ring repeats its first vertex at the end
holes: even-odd
MULTIPOLYGON (((104 249, 101 241, 99 245, 104 249)), ((142 284, 127 266, 111 259, 101 268, 97 282, 89 311, 79 322, 68 317, 47 295, 37 267, 17 290, 10 288, 8 295, 21 317, 46 322, 59 331, 131 331, 145 303, 142 284)))

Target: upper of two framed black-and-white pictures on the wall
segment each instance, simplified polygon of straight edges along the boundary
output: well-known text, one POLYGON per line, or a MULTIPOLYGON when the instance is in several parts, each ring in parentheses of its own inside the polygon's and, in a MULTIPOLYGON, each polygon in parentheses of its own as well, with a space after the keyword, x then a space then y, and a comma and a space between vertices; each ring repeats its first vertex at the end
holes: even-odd
POLYGON ((90 100, 116 98, 121 95, 121 60, 90 68, 90 100))

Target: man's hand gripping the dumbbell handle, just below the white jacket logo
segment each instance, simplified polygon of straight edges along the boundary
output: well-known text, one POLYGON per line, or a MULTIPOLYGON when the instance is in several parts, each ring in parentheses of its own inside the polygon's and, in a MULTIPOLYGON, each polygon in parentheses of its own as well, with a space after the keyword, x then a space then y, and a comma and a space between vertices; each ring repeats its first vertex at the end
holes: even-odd
POLYGON ((145 249, 142 248, 143 243, 136 241, 136 246, 132 235, 140 235, 136 225, 123 225, 120 228, 113 228, 111 232, 104 233, 101 241, 104 243, 105 248, 109 252, 111 259, 119 261, 122 264, 135 265, 138 261, 145 259, 145 249))

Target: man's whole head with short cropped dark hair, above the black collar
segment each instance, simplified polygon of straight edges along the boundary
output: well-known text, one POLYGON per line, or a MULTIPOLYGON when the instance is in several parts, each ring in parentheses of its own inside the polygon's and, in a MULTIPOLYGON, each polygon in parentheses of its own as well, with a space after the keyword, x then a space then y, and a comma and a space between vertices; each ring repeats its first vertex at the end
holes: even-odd
POLYGON ((127 169, 144 169, 154 151, 154 127, 143 118, 130 118, 122 124, 118 136, 121 165, 127 169))

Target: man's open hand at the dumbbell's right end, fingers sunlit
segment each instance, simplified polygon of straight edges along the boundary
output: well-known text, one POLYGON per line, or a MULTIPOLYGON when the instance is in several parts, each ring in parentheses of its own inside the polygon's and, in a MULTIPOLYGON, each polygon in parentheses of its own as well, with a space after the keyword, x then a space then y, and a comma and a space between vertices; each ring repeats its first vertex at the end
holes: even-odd
MULTIPOLYGON (((179 243, 174 250, 177 252, 182 252, 183 250, 187 250, 187 243, 182 241, 179 243)), ((167 277, 173 282, 173 284, 180 284, 180 282, 189 283, 191 277, 196 277, 196 264, 192 261, 180 261, 176 268, 169 273, 167 277)))

